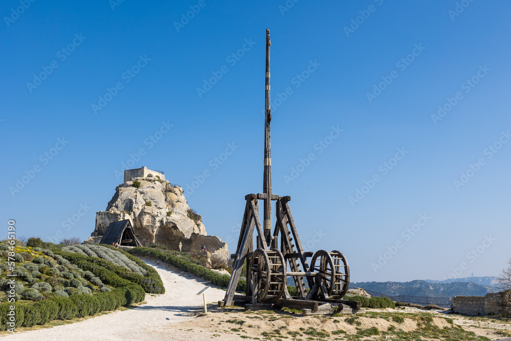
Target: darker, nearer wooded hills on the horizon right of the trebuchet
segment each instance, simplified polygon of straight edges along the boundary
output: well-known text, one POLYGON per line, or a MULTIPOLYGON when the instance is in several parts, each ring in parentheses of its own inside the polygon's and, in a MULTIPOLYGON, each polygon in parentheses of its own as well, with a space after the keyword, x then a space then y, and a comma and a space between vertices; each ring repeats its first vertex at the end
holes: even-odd
POLYGON ((410 295, 423 297, 483 296, 498 292, 499 288, 474 282, 428 283, 422 280, 411 282, 360 282, 350 283, 350 288, 362 288, 389 296, 410 295))

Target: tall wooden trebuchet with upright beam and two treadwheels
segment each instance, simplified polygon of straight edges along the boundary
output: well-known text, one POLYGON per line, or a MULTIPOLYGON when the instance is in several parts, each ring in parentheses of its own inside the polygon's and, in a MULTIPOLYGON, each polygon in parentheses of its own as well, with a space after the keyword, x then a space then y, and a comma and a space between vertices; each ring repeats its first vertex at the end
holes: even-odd
POLYGON ((219 306, 244 304, 245 309, 257 310, 273 305, 305 309, 307 314, 328 313, 335 309, 343 313, 361 311, 360 302, 342 301, 350 283, 350 269, 344 255, 339 251, 320 250, 314 255, 306 252, 289 208, 291 197, 271 193, 270 45, 270 31, 267 30, 263 193, 245 196, 238 246, 236 253, 231 255, 234 258, 233 273, 219 306), (262 224, 259 200, 264 202, 262 224), (275 201, 273 234, 270 226, 271 201, 275 201), (255 247, 254 232, 257 233, 255 247), (246 274, 242 274, 244 264, 246 274), (245 295, 236 294, 242 276, 246 276, 245 295), (296 286, 295 297, 291 297, 287 289, 288 277, 292 277, 296 286))

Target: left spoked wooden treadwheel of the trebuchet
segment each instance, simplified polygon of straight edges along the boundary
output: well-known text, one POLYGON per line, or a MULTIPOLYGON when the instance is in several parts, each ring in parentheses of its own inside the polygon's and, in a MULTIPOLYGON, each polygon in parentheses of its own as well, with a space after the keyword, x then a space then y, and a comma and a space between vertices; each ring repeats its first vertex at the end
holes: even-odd
POLYGON ((259 300, 264 298, 278 299, 286 288, 286 262, 277 249, 271 251, 258 248, 250 260, 250 282, 252 287, 257 275, 255 294, 259 300))

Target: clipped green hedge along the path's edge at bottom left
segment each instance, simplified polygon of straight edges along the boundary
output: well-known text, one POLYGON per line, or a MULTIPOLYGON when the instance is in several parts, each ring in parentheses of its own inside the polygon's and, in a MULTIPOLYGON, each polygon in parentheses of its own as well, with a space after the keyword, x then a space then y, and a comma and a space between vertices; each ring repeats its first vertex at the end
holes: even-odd
POLYGON ((0 330, 13 326, 7 323, 7 315, 14 306, 14 328, 43 325, 52 320, 71 320, 74 317, 94 315, 100 311, 115 310, 120 306, 130 305, 144 299, 144 291, 140 286, 115 288, 111 291, 95 295, 75 294, 70 298, 51 297, 33 303, 0 304, 0 330))

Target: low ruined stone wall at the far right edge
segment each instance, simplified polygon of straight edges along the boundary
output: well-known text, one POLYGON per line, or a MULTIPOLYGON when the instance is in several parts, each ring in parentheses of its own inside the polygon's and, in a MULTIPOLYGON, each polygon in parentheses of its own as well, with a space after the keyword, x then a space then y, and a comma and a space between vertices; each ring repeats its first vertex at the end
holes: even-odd
POLYGON ((485 296, 455 296, 451 300, 454 312, 467 315, 511 313, 511 290, 487 293, 485 296))

